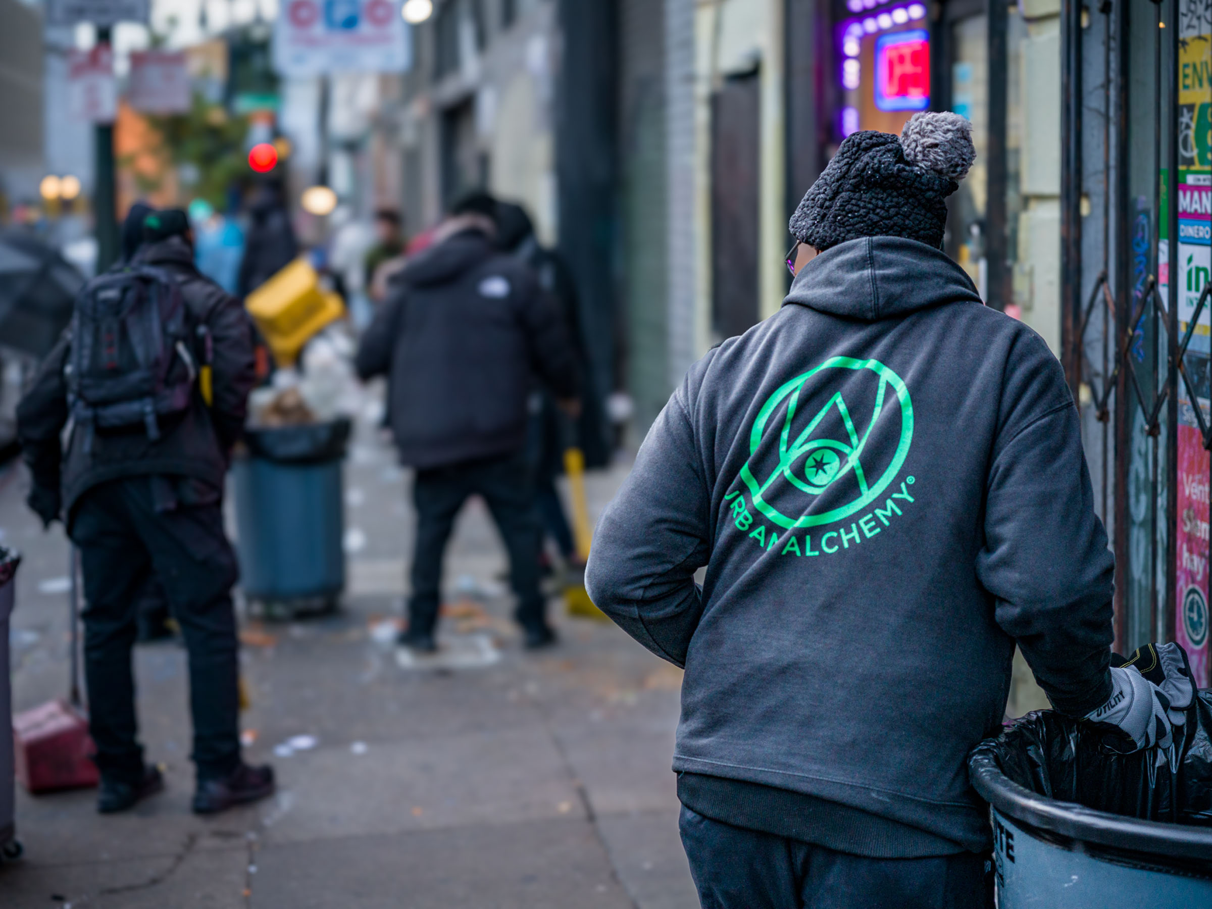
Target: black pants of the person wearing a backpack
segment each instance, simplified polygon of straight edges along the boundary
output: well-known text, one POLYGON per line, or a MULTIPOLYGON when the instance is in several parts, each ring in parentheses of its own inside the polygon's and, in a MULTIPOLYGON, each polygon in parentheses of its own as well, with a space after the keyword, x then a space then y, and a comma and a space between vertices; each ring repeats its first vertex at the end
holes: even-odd
POLYGON ((90 731, 97 766, 137 779, 131 648, 139 593, 159 578, 189 653, 190 755, 200 778, 230 773, 240 760, 240 696, 231 585, 235 554, 218 501, 184 504, 164 478, 114 480, 85 493, 72 519, 84 567, 84 651, 90 731))

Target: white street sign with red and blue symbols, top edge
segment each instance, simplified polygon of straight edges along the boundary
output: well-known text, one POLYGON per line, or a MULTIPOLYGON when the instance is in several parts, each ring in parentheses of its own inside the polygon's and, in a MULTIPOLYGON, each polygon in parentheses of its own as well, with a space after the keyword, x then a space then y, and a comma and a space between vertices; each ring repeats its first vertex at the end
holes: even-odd
POLYGON ((284 0, 274 69, 284 76, 404 73, 412 65, 400 0, 284 0))

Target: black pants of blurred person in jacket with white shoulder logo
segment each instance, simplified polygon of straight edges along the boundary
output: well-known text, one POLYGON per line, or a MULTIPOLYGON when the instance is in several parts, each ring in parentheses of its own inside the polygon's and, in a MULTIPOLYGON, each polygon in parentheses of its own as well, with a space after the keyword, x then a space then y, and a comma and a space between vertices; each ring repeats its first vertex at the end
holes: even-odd
POLYGON ((480 494, 497 522, 509 553, 509 577, 518 594, 518 622, 527 629, 545 627, 538 589, 539 527, 520 457, 475 461, 418 470, 412 494, 417 505, 417 548, 412 559, 412 599, 408 630, 433 634, 441 601, 442 555, 454 516, 468 496, 480 494))

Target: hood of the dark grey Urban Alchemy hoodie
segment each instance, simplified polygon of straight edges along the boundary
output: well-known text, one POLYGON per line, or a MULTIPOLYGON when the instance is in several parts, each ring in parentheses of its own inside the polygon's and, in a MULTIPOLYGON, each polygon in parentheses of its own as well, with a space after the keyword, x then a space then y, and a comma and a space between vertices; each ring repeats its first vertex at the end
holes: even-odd
POLYGON ((783 302, 864 322, 942 303, 983 303, 950 256, 899 236, 863 236, 831 246, 800 269, 783 302))

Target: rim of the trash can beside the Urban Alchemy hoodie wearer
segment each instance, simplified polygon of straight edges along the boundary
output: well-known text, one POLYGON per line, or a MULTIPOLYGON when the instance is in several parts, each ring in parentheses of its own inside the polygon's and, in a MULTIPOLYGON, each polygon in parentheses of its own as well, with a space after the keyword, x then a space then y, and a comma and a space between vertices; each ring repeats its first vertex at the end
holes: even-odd
POLYGON ((1033 793, 997 767, 987 750, 994 741, 977 747, 968 759, 968 771, 972 787, 1002 814, 1080 842, 1204 862, 1212 858, 1212 829, 1140 821, 1033 793))

